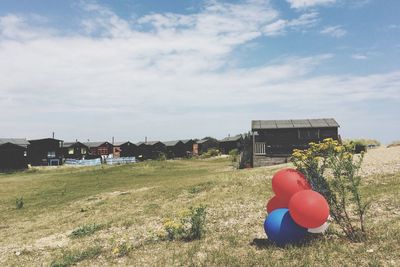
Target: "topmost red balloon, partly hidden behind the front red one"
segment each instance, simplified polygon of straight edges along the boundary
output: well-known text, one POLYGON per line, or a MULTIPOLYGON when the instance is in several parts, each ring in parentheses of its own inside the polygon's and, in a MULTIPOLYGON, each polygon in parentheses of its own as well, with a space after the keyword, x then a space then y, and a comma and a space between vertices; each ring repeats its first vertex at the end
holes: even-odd
POLYGON ((279 198, 289 202, 299 191, 311 189, 306 177, 295 169, 283 169, 272 177, 272 190, 279 198))

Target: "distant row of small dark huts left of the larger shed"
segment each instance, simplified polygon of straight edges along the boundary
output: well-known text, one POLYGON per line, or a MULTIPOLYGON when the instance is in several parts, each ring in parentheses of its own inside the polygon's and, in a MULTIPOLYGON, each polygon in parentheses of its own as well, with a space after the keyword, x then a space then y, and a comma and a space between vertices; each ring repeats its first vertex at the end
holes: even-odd
POLYGON ((64 142, 43 138, 27 140, 21 138, 0 138, 0 170, 24 169, 31 166, 58 166, 85 162, 127 163, 160 157, 174 159, 199 156, 210 148, 227 154, 232 149, 240 150, 242 135, 222 140, 205 138, 175 141, 125 142, 64 142))

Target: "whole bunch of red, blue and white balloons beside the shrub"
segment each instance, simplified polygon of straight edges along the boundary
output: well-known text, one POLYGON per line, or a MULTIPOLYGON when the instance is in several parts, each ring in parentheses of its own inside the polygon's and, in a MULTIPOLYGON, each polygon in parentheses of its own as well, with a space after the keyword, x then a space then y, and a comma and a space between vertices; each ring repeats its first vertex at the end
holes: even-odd
POLYGON ((312 190, 305 176, 295 169, 283 169, 272 177, 275 196, 267 203, 264 230, 278 246, 296 243, 306 233, 323 233, 328 228, 329 205, 312 190))

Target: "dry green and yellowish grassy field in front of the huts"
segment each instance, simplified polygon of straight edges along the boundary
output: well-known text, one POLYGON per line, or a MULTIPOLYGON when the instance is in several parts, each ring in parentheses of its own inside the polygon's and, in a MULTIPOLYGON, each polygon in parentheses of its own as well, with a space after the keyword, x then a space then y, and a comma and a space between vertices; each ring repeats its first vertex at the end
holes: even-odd
POLYGON ((366 177, 365 243, 331 231, 278 248, 263 221, 282 167, 235 170, 220 158, 0 174, 0 265, 400 266, 400 173, 366 177), (157 237, 164 219, 200 204, 203 239, 157 237))

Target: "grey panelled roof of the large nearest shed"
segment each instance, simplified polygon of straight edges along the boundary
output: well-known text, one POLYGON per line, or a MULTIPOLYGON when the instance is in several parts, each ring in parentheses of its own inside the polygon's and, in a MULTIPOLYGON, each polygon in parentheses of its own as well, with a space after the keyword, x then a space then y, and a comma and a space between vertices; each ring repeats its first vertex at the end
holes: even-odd
POLYGON ((261 129, 290 129, 290 128, 332 128, 340 127, 333 118, 304 119, 304 120, 254 120, 252 130, 261 129))

